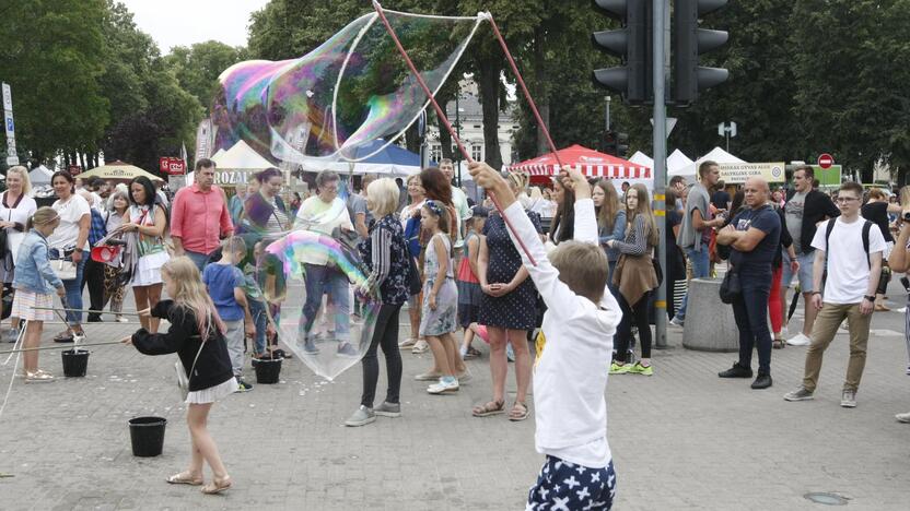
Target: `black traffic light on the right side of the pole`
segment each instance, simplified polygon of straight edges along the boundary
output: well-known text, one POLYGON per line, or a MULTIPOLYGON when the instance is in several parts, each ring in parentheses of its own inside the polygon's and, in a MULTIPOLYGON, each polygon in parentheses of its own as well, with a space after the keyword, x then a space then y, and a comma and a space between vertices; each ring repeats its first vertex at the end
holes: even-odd
POLYGON ((699 16, 726 5, 727 0, 676 0, 674 8, 675 83, 673 99, 687 106, 698 99, 698 92, 726 82, 730 72, 721 68, 699 66, 698 56, 726 44, 724 31, 698 27, 699 16))

